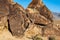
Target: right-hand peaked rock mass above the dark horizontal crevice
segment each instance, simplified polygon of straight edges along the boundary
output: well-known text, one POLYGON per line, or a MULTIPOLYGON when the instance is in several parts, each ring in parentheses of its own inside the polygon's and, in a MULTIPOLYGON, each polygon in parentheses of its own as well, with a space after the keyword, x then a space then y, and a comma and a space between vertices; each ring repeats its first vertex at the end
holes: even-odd
POLYGON ((26 9, 26 11, 28 12, 27 14, 29 14, 31 16, 31 17, 30 16, 28 16, 28 17, 30 17, 30 19, 35 19, 35 20, 37 19, 36 21, 38 21, 39 24, 42 22, 42 23, 44 23, 46 25, 46 24, 50 24, 50 23, 53 22, 52 13, 43 4, 42 0, 32 0, 32 2, 29 4, 29 6, 26 9), (39 21, 39 20, 42 20, 42 21, 39 21))

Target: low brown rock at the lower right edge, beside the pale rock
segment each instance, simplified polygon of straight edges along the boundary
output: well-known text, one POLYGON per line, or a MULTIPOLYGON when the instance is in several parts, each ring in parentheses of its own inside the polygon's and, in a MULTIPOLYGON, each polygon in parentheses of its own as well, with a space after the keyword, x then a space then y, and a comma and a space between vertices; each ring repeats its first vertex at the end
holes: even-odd
POLYGON ((53 25, 53 27, 44 27, 43 28, 43 35, 44 36, 60 36, 60 31, 59 31, 60 29, 57 27, 57 26, 55 26, 55 25, 53 25))

